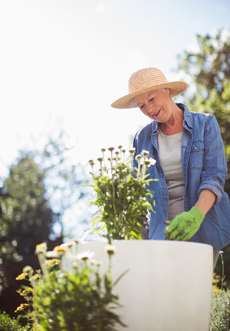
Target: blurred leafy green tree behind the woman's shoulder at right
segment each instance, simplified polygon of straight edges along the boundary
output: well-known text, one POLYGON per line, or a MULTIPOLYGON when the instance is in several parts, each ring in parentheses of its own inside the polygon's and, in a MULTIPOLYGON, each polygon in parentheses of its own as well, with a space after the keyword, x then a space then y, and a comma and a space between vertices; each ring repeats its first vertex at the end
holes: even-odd
MULTIPOLYGON (((183 102, 190 111, 216 117, 228 166, 224 190, 230 196, 230 31, 220 30, 215 36, 197 35, 197 44, 198 52, 184 51, 178 56, 178 70, 183 71, 185 79, 187 77, 195 87, 190 95, 185 93, 183 102)), ((223 251, 226 280, 230 286, 230 247, 223 251)), ((220 259, 215 271, 222 272, 220 259)))

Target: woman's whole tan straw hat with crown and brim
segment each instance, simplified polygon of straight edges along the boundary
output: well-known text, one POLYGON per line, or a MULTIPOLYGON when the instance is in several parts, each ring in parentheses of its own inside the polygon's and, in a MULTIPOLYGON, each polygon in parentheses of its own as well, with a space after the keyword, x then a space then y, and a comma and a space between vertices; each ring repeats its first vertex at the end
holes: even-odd
POLYGON ((168 87, 171 97, 183 93, 188 88, 188 84, 181 81, 168 83, 165 75, 156 68, 145 68, 134 72, 128 82, 128 94, 112 103, 113 108, 126 109, 136 108, 137 105, 130 101, 139 94, 168 87))

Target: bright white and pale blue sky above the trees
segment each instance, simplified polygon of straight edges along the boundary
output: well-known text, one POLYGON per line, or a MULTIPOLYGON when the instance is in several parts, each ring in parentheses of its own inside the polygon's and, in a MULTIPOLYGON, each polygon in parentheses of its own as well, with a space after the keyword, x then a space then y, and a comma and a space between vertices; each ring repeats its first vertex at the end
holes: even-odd
POLYGON ((18 149, 41 147, 57 119, 70 144, 78 140, 73 162, 129 148, 149 121, 110 106, 130 74, 156 67, 181 79, 177 54, 197 33, 229 29, 229 9, 229 0, 0 0, 0 176, 18 149))

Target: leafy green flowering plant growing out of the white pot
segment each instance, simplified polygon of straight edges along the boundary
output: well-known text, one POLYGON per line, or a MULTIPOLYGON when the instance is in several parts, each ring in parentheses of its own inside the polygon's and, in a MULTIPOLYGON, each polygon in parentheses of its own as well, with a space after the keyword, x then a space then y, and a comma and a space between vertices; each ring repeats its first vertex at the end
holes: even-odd
MULTIPOLYGON (((113 239, 142 239, 143 231, 148 230, 148 223, 143 221, 147 208, 152 210, 148 200, 153 200, 153 194, 148 189, 149 182, 146 170, 155 160, 148 159, 148 152, 143 151, 137 155, 139 162, 137 169, 133 169, 128 163, 124 163, 125 150, 114 151, 109 148, 110 157, 106 157, 105 149, 102 149, 103 158, 99 158, 100 169, 94 172, 92 166, 91 186, 96 193, 90 205, 95 205, 99 216, 93 219, 93 225, 101 223, 96 232, 108 240, 113 239)), ((133 158, 134 150, 130 150, 133 158)), ((132 162, 132 160, 131 160, 132 162)), ((153 200, 154 203, 154 200, 153 200)))

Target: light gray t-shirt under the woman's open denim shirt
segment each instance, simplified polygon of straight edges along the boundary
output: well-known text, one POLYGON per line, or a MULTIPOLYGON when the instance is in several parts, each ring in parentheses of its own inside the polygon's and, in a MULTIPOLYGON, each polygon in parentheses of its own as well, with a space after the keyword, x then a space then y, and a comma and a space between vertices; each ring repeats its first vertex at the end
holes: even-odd
POLYGON ((160 164, 164 171, 169 193, 169 220, 184 211, 184 173, 181 163, 182 134, 183 132, 166 136, 160 128, 158 131, 160 164))

